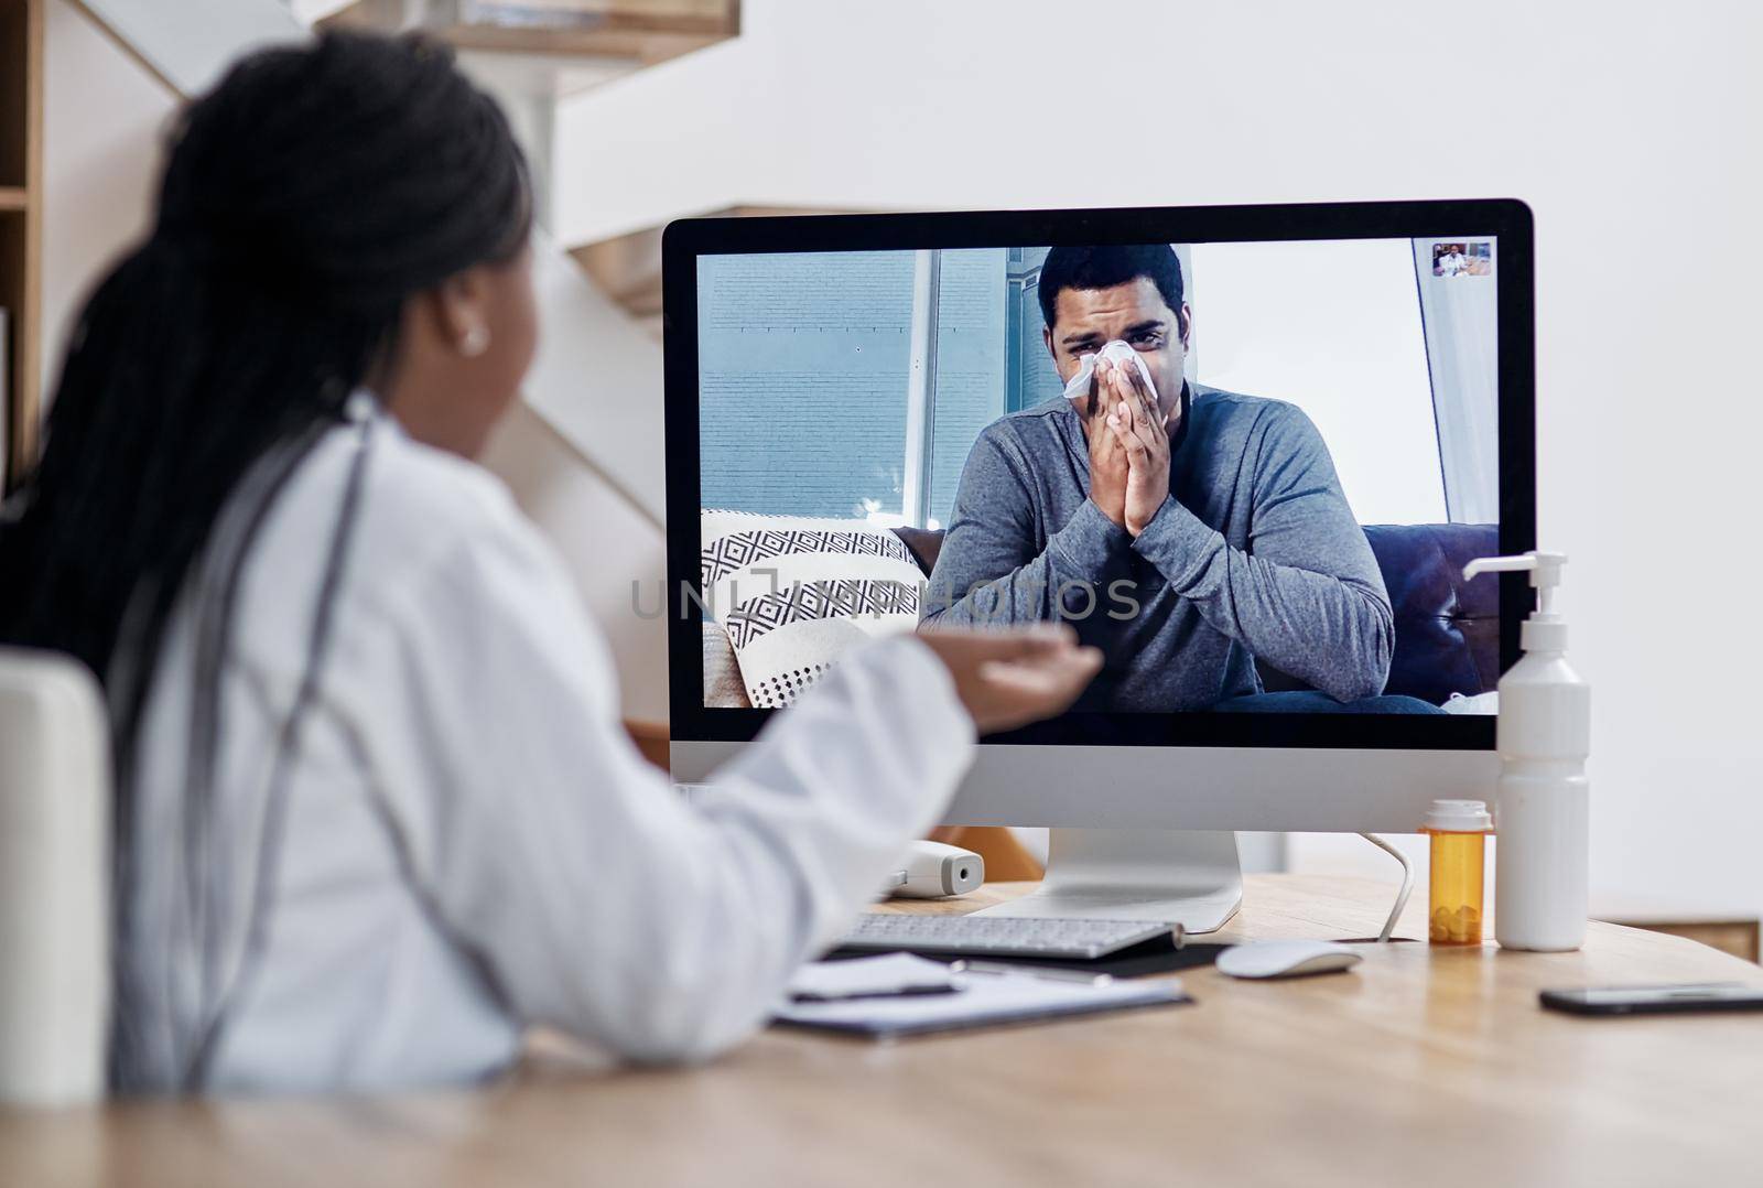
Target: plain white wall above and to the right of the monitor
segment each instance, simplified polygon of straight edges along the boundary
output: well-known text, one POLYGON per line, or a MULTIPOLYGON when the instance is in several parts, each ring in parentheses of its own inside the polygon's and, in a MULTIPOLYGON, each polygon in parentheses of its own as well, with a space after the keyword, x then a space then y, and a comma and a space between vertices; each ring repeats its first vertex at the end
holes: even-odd
POLYGON ((1733 266, 1763 210, 1763 5, 1490 0, 1472 30, 1412 0, 742 16, 735 42, 559 113, 566 241, 735 203, 1527 199, 1541 536, 1573 555, 1564 606, 1597 686, 1596 902, 1763 911, 1745 747, 1763 291, 1733 266), (1451 74, 1440 39, 1469 46, 1451 74))

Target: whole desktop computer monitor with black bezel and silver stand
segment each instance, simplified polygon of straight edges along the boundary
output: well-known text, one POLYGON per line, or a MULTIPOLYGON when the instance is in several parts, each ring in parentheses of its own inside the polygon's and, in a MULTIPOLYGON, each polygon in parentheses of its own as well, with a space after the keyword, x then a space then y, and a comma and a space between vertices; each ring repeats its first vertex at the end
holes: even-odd
POLYGON ((1523 203, 688 219, 663 291, 677 779, 866 638, 1063 619, 1102 677, 945 818, 1053 828, 1000 911, 1208 931, 1229 830, 1488 797, 1532 596, 1462 566, 1536 546, 1523 203))

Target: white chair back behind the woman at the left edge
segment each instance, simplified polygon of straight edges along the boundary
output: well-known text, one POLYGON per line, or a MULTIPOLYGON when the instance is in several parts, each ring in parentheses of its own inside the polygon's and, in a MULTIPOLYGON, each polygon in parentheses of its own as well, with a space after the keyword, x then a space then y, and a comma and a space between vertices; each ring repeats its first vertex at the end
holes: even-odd
POLYGON ((0 1102, 104 1095, 109 772, 92 673, 0 649, 0 1102))

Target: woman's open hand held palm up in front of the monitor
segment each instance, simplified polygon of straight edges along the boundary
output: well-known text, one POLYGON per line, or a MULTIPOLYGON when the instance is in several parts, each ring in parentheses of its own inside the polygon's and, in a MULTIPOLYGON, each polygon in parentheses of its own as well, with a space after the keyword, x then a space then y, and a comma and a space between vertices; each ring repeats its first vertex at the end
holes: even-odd
POLYGON ((1102 670, 1102 652, 1079 647, 1065 624, 966 631, 931 627, 924 645, 948 668, 956 694, 982 735, 1053 717, 1102 670))

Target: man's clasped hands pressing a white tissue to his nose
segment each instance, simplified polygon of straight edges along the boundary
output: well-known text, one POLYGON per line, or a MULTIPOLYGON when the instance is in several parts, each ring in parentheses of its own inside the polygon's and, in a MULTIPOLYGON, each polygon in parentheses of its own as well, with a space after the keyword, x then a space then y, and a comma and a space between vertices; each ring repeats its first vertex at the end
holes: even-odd
POLYGON ((1137 536, 1169 497, 1169 435, 1181 404, 1165 418, 1137 367, 1097 360, 1090 395, 1072 407, 1090 444, 1090 501, 1137 536))

